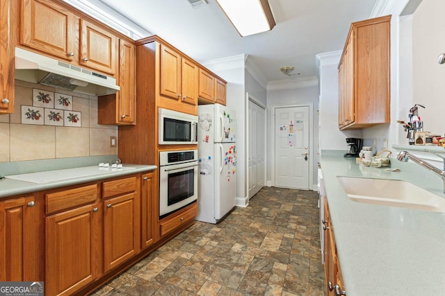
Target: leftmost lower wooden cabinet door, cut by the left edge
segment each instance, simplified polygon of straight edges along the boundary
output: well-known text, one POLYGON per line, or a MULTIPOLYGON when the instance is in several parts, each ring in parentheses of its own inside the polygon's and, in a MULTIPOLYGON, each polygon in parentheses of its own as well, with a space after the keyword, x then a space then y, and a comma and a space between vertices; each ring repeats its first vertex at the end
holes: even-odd
POLYGON ((44 202, 34 196, 0 202, 0 279, 43 281, 44 202))

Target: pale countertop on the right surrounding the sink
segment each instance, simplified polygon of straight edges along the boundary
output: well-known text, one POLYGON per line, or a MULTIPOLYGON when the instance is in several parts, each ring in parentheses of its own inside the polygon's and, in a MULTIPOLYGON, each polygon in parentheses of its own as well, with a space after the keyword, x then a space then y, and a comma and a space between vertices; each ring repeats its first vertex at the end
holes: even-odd
POLYGON ((445 198, 440 177, 391 159, 387 172, 323 150, 321 170, 348 296, 444 295, 445 214, 350 200, 337 176, 405 180, 445 198))

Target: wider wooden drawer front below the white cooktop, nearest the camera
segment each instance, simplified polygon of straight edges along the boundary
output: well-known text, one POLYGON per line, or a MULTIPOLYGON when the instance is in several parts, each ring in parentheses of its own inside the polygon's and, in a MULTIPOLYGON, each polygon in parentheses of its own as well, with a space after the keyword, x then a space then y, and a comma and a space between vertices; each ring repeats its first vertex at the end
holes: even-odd
POLYGON ((95 202, 97 199, 97 184, 48 193, 45 198, 47 200, 47 214, 53 214, 95 202))

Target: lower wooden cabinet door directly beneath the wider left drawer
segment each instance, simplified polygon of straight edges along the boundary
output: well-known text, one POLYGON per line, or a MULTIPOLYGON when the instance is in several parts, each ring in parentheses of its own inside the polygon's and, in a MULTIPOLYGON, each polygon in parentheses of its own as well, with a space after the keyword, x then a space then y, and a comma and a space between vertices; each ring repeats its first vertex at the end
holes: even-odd
POLYGON ((96 279, 100 214, 88 204, 46 218, 45 294, 70 295, 96 279))

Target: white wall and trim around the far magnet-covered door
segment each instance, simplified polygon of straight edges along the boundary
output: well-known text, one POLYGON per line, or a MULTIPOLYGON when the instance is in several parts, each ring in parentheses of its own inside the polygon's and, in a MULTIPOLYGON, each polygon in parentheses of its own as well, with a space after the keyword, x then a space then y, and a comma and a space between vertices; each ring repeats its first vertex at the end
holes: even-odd
MULTIPOLYGON (((280 106, 280 105, 300 105, 302 103, 313 103, 314 105, 314 112, 313 112, 313 124, 314 124, 314 134, 310 135, 313 136, 313 145, 312 150, 310 153, 312 154, 312 165, 314 166, 313 171, 313 177, 314 182, 317 180, 316 174, 317 174, 317 166, 318 166, 318 157, 317 151, 318 151, 318 87, 302 87, 302 88, 296 88, 296 89, 280 89, 280 90, 273 90, 267 91, 267 126, 271 127, 273 126, 273 116, 271 114, 272 107, 273 106, 280 106)), ((272 157, 271 155, 271 144, 273 139, 271 138, 271 133, 268 132, 267 134, 267 163, 271 164, 272 157)), ((268 165, 267 168, 267 181, 268 184, 272 183, 272 169, 270 165, 268 165)))

